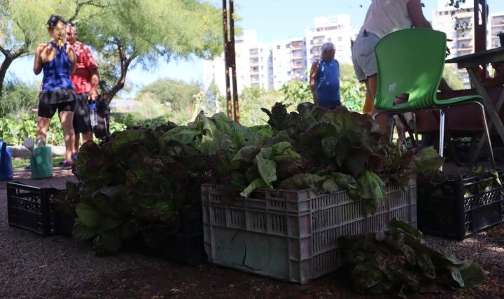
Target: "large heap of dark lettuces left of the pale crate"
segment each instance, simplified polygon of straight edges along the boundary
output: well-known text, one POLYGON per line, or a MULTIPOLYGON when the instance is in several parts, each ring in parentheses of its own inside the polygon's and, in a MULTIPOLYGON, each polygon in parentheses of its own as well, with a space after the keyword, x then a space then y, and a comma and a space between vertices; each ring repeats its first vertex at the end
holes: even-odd
POLYGON ((223 114, 199 114, 187 126, 138 128, 101 145, 83 144, 74 167, 79 182, 71 188, 78 190, 74 237, 92 240, 99 254, 117 251, 137 234, 157 248, 178 232, 181 209, 200 200, 195 186, 210 179, 212 167, 226 167, 218 155, 231 157, 259 138, 223 114))

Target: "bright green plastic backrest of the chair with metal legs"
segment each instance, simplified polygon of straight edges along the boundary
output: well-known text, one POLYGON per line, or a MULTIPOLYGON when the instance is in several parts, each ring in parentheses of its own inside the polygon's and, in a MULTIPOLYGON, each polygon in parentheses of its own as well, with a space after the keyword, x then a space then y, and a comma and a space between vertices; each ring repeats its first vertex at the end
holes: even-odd
POLYGON ((384 36, 374 49, 377 109, 401 111, 435 106, 445 48, 446 34, 431 29, 402 29, 384 36), (395 104, 395 97, 401 94, 409 94, 407 102, 395 104))

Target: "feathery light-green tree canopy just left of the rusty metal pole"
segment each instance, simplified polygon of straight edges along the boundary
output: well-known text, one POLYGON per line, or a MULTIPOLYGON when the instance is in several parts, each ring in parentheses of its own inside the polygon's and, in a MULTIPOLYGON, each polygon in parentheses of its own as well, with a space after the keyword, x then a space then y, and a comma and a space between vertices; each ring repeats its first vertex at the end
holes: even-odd
POLYGON ((211 57, 222 51, 221 11, 197 0, 111 0, 76 25, 79 39, 101 56, 100 85, 112 95, 138 64, 147 69, 160 57, 211 57))

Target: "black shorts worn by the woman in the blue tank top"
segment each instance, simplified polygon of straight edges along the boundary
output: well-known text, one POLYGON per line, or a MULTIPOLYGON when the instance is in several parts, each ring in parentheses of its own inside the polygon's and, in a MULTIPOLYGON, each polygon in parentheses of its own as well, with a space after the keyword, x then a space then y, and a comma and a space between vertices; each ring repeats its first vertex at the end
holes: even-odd
POLYGON ((37 115, 42 118, 52 118, 56 111, 71 111, 75 108, 77 95, 73 88, 43 92, 38 102, 37 115))

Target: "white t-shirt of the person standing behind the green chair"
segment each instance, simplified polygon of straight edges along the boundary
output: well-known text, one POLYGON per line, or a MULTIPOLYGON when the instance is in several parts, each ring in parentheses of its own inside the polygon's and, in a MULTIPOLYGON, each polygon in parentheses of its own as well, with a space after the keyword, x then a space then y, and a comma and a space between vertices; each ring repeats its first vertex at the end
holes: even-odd
POLYGON ((412 27, 407 10, 408 2, 409 0, 372 0, 360 32, 365 29, 381 39, 395 30, 412 27))

